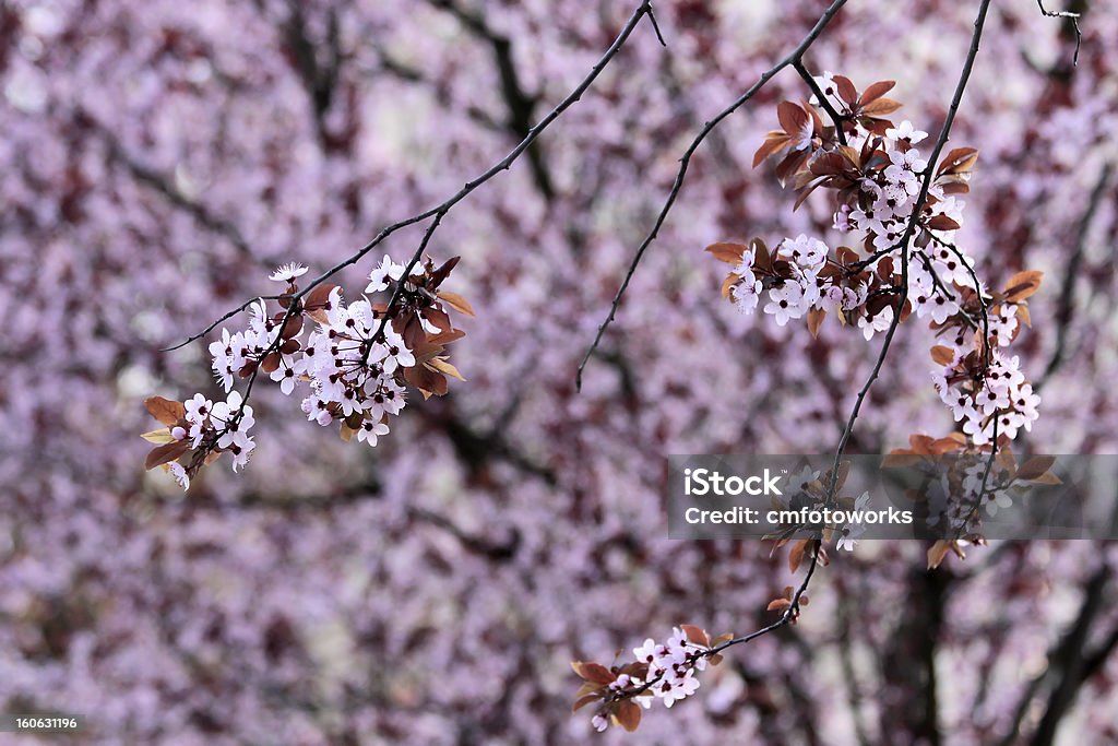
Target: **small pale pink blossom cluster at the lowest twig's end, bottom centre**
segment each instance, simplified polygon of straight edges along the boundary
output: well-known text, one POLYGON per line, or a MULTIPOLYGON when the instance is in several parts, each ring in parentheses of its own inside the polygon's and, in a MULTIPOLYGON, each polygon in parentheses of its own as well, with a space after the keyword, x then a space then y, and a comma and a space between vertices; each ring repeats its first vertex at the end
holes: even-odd
POLYGON ((605 730, 610 724, 635 730, 641 720, 637 705, 648 709, 659 699, 670 708, 693 695, 699 689, 697 672, 704 671, 708 662, 717 665, 721 657, 716 649, 731 639, 727 634, 712 641, 705 631, 683 624, 673 627, 663 643, 648 638, 634 648, 635 661, 625 665, 606 669, 598 663, 572 663, 585 681, 575 709, 598 701, 590 718, 596 730, 605 730))

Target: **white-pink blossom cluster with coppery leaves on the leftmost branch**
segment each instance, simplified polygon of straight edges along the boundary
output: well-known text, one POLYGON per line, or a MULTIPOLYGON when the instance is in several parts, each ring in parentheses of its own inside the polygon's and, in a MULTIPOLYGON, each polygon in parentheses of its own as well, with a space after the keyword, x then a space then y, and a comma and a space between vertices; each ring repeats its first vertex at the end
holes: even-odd
POLYGON ((369 274, 364 292, 390 291, 388 302, 362 295, 348 304, 337 285, 315 283, 300 293, 297 278, 305 266, 277 268, 269 278, 285 284, 277 296, 280 310, 269 314, 263 299, 255 301, 247 328, 233 333, 221 329, 220 339, 209 346, 226 400, 214 404, 195 394, 183 403, 162 397, 145 402, 167 426, 144 434, 157 444, 145 466, 164 466, 183 489, 221 453, 233 454, 234 471, 244 466, 256 447, 248 434, 255 419, 247 391, 241 395, 234 387, 247 379, 250 390, 260 372, 288 396, 306 384, 301 409, 309 421, 340 423, 343 440, 357 436, 377 445, 389 432, 389 417, 404 409, 408 385, 427 397, 446 393, 446 376, 462 378, 446 360, 445 348, 463 332, 454 329, 444 304, 466 314, 473 309, 462 296, 439 290, 456 263, 455 257, 436 268, 428 261, 405 281, 405 265, 386 256, 369 274), (315 327, 304 339, 306 321, 315 327))

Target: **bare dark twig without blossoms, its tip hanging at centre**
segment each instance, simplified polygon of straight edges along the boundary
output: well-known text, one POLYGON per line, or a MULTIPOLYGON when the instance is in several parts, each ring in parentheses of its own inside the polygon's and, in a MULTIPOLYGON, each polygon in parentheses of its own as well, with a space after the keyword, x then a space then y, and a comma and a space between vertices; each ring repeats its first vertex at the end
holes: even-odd
POLYGON ((614 317, 617 314, 617 306, 620 305, 622 298, 625 295, 625 291, 628 289, 629 281, 633 280, 633 274, 636 272, 637 265, 644 257, 645 251, 647 251, 648 246, 652 245, 652 242, 656 240, 656 236, 660 234, 661 226, 664 225, 664 220, 667 219, 667 214, 672 211, 672 206, 675 205, 675 199, 676 197, 679 197, 680 190, 683 188, 683 180, 686 178, 688 174, 688 167, 691 164, 691 157, 694 155, 694 152, 699 149, 699 145, 703 143, 703 141, 714 130, 714 128, 721 124, 722 120, 724 120, 733 112, 738 111, 747 101, 752 98, 758 91, 765 87, 765 84, 767 84, 774 76, 776 76, 777 73, 783 70, 785 67, 788 67, 789 65, 799 62, 803 58, 804 53, 806 53, 808 47, 811 47, 812 44, 815 41, 815 39, 819 37, 819 34, 823 32, 823 29, 826 28, 827 23, 831 22, 831 19, 835 17, 835 13, 837 13, 839 10, 844 4, 846 4, 846 0, 834 0, 834 2, 831 3, 831 6, 823 12, 819 19, 815 22, 815 26, 812 27, 812 30, 807 32, 807 36, 804 37, 803 41, 800 41, 799 45, 788 54, 787 57, 785 57, 776 65, 770 67, 768 70, 762 73, 761 76, 757 79, 757 83, 750 86, 749 89, 746 91, 743 94, 741 94, 733 103, 731 103, 729 106, 719 112, 718 115, 714 116, 714 119, 707 122, 707 124, 704 124, 703 128, 695 135, 694 140, 691 141, 691 144, 688 147, 688 149, 683 152, 683 157, 680 159, 680 169, 675 174, 675 182, 672 185, 671 191, 667 192, 667 199, 664 201, 664 206, 661 208, 660 215, 656 217, 656 221, 653 224, 652 229, 648 232, 648 235, 645 236, 643 242, 641 242, 641 245, 637 247, 636 253, 633 255, 633 259, 632 262, 629 262, 628 271, 625 273, 625 277, 622 280, 622 284, 617 289, 617 293, 614 295, 614 301, 609 305, 609 314, 606 317, 605 321, 603 321, 601 324, 598 327, 598 332, 594 337, 594 342, 586 351, 586 355, 582 356, 582 361, 578 365, 578 372, 575 376, 575 387, 578 390, 582 389, 582 371, 586 369, 586 365, 587 362, 589 362, 590 357, 594 355, 595 350, 598 349, 598 344, 601 342, 601 337, 603 334, 605 334, 606 328, 609 327, 610 323, 613 323, 614 317))

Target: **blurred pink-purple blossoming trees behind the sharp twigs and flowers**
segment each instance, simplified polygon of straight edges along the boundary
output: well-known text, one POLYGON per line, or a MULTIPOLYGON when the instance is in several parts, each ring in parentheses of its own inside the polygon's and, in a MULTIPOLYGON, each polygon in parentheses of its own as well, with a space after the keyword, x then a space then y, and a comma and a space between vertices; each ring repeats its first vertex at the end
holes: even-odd
MULTIPOLYGON (((775 104, 807 95, 794 72, 699 151, 574 380, 683 149, 817 0, 656 3, 667 48, 642 22, 436 234, 436 259, 463 257, 447 289, 477 312, 454 349, 468 383, 416 397, 375 450, 260 381, 246 473, 218 462, 183 494, 142 469, 145 396, 218 394, 209 340, 160 348, 275 292, 275 265, 315 275, 457 191, 636 6, 0 2, 0 712, 85 715, 67 743, 588 743, 570 660, 681 622, 773 620, 785 559, 669 540, 663 484, 672 453, 833 451, 880 343, 741 317, 702 252, 833 235, 825 197, 793 213, 771 164, 750 168, 775 104)), ((850 2, 806 62, 859 87, 896 78, 896 119, 935 133, 977 6, 850 2)), ((959 238, 994 286, 1045 272, 1014 348, 1044 379, 1018 450, 1115 453, 1118 189, 1100 179, 1118 160, 1118 7, 1071 9, 1076 67, 1070 21, 993 4, 951 136, 980 150, 959 238)), ((420 237, 385 248, 404 259, 420 237)), ((359 291, 379 258, 341 284, 359 291)), ((929 343, 901 328, 852 452, 951 429, 929 343)), ((1001 544, 930 573, 925 550, 841 553, 800 624, 735 649, 636 736, 593 738, 1118 743, 1118 549, 1001 544)))

